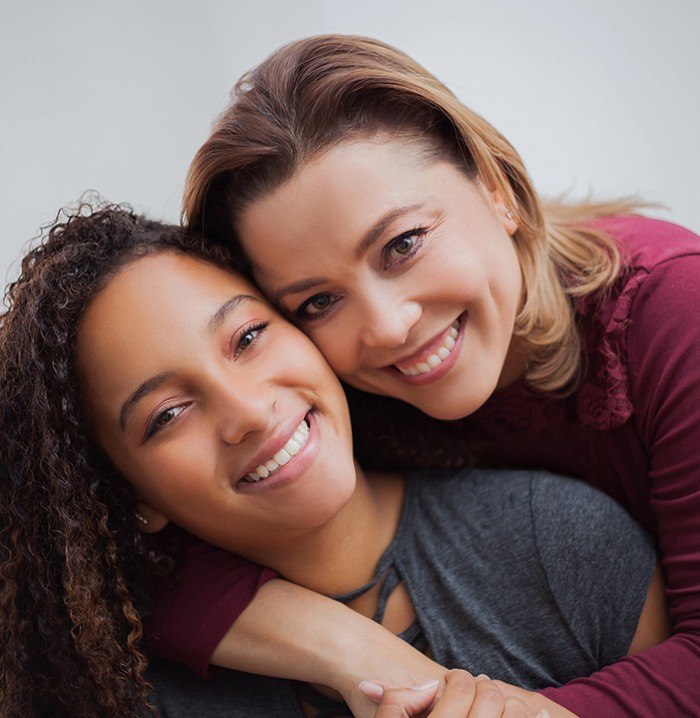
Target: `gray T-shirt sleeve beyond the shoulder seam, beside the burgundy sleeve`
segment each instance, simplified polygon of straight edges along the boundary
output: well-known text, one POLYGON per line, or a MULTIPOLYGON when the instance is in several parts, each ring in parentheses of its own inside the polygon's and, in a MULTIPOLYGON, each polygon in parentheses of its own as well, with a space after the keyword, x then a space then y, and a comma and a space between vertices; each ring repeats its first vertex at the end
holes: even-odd
POLYGON ((600 666, 619 660, 637 629, 655 566, 650 537, 610 497, 571 479, 532 485, 537 553, 557 609, 600 666))

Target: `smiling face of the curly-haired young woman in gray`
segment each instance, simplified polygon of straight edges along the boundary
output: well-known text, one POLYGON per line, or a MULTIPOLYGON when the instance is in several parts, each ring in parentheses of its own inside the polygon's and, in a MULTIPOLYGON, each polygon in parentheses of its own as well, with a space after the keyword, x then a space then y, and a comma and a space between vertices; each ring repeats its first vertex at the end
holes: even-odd
POLYGON ((352 494, 342 388, 240 277, 172 252, 137 259, 91 302, 77 351, 97 441, 154 525, 258 560, 352 494))

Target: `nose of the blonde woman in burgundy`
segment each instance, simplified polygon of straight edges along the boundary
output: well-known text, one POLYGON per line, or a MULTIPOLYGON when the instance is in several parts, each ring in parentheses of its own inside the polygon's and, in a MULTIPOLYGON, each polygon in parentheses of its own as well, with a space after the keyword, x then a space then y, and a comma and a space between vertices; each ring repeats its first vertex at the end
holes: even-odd
POLYGON ((397 349, 420 319, 420 304, 391 293, 368 297, 362 306, 360 317, 362 343, 373 349, 397 349))

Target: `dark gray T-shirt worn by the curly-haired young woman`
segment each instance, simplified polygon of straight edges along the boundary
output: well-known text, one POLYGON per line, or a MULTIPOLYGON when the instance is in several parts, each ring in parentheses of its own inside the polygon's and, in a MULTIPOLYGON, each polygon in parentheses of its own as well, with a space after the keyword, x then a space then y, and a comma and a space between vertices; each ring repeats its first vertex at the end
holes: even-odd
MULTIPOLYGON (((387 590, 403 583, 438 663, 537 689, 627 653, 654 563, 649 537, 586 484, 467 470, 407 477, 377 574, 387 590)), ((150 680, 164 718, 303 716, 290 681, 236 671, 203 680, 162 661, 150 680)))

